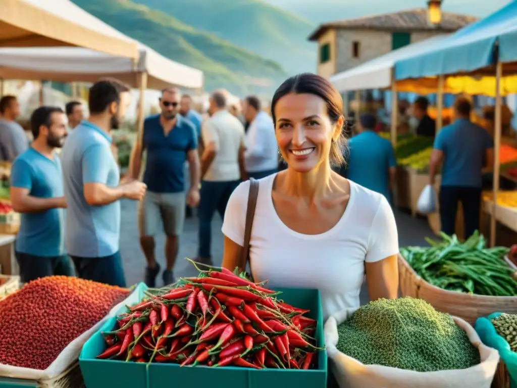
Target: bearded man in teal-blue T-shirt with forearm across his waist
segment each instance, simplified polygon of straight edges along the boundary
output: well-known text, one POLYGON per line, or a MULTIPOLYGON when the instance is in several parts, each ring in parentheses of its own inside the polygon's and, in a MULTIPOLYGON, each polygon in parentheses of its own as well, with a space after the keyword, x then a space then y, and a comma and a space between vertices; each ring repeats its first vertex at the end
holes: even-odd
POLYGON ((67 133, 63 110, 39 107, 31 116, 31 130, 34 141, 14 159, 10 188, 13 210, 21 213, 15 251, 24 283, 73 275, 65 252, 63 175, 54 151, 67 133))

